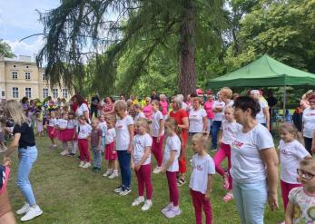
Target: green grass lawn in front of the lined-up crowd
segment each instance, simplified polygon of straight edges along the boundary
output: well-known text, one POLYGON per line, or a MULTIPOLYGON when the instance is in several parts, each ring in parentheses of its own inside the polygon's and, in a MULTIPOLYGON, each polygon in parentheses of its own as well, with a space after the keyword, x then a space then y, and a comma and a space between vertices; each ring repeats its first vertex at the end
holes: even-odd
MULTIPOLYGON (((79 161, 76 158, 60 156, 60 149, 49 150, 49 141, 46 137, 37 138, 36 142, 39 156, 31 173, 31 182, 36 200, 44 213, 27 223, 194 223, 188 183, 180 187, 182 215, 174 219, 166 219, 160 212, 168 203, 166 177, 162 174, 153 174, 153 208, 143 212, 141 207, 131 207, 131 203, 137 197, 134 173, 133 191, 122 197, 113 193, 113 189, 120 183, 120 178, 109 180, 103 178, 103 172, 94 174, 92 170, 78 168, 79 161)), ((187 153, 189 161, 192 157, 190 146, 187 153)), ((15 185, 17 154, 13 154, 12 158, 14 160, 8 189, 11 204, 16 210, 22 207, 25 200, 15 185)), ((188 166, 188 170, 187 180, 189 180, 192 168, 188 166)), ((222 200, 225 190, 222 189, 221 183, 221 177, 215 175, 212 190, 213 223, 240 223, 234 202, 225 203, 222 200)), ((266 209, 265 223, 278 223, 283 220, 280 190, 279 201, 281 208, 278 211, 271 212, 269 208, 266 209)), ((20 223, 20 217, 15 217, 20 223)))

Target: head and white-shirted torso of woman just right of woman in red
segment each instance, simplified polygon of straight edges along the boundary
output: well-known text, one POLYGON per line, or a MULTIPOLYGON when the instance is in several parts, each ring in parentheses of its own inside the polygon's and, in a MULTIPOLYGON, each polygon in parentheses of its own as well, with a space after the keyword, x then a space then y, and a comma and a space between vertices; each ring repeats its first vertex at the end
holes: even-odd
POLYGON ((192 110, 189 113, 189 133, 206 132, 208 127, 207 112, 200 107, 199 98, 192 98, 192 110))

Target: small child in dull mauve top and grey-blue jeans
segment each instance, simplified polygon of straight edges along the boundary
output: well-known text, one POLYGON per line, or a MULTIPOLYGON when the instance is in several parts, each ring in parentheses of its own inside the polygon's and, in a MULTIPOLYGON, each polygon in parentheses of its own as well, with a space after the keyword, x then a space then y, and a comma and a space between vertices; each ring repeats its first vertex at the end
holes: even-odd
POLYGON ((100 121, 98 118, 92 120, 92 132, 91 132, 91 147, 93 151, 93 170, 94 172, 101 171, 102 168, 102 135, 103 131, 99 128, 100 121))

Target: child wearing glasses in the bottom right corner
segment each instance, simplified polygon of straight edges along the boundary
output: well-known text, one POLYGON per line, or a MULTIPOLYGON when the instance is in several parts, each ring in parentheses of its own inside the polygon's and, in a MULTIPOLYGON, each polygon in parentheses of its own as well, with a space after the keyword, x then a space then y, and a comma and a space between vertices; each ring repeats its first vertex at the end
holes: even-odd
POLYGON ((289 202, 285 213, 286 224, 314 223, 315 208, 315 161, 300 161, 298 176, 302 187, 289 193, 289 202))

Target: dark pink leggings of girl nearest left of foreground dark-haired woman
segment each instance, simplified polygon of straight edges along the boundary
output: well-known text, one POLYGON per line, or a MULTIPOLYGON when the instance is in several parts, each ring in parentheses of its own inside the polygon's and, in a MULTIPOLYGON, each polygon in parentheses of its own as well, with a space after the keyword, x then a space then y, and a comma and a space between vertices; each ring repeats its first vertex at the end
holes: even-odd
POLYGON ((206 200, 205 195, 199 191, 191 189, 191 194, 196 224, 202 224, 202 208, 206 217, 206 224, 212 224, 212 206, 210 200, 206 200))

